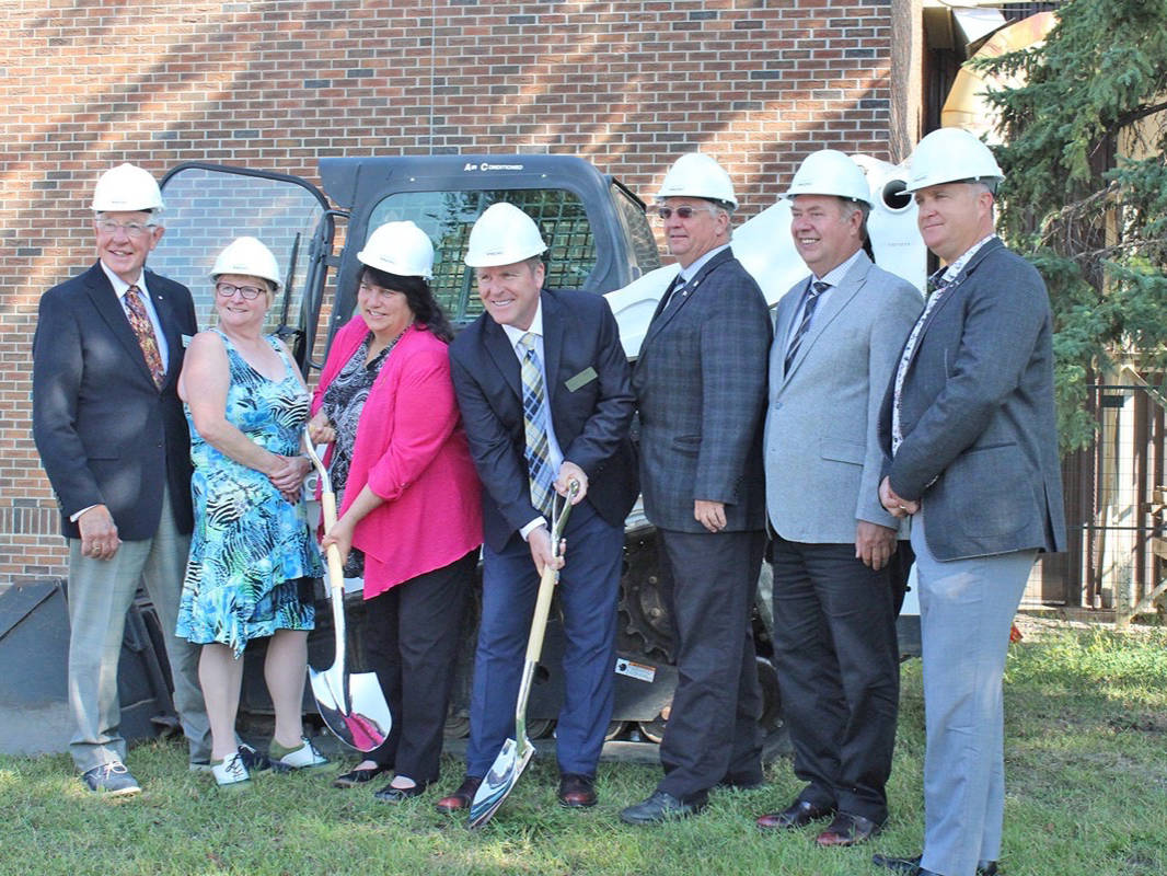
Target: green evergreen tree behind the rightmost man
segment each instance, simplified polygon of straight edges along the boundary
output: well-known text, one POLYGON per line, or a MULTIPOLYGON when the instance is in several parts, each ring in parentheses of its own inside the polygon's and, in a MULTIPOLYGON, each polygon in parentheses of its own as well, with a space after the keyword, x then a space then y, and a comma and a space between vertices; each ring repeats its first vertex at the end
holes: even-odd
POLYGON ((1084 447, 1089 382, 1130 357, 1167 371, 1167 0, 1070 0, 1044 44, 983 63, 1006 146, 1001 227, 1055 318, 1060 431, 1084 447), (1124 155, 1131 158, 1124 158, 1124 155))

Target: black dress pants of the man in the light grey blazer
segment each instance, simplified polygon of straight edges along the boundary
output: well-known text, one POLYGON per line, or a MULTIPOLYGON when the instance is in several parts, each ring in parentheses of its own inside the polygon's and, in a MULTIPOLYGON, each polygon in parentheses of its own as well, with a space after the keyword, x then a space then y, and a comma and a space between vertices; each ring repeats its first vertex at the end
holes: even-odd
POLYGON ((774 661, 795 750, 798 795, 887 819, 900 701, 895 597, 854 544, 774 541, 774 661))

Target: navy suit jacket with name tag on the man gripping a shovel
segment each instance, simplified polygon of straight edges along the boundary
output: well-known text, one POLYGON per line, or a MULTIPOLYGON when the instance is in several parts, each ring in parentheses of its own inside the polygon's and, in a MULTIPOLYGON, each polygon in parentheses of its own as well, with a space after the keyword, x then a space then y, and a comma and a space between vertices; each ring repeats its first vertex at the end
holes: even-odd
MULTIPOLYGON (((607 300, 588 292, 545 288, 540 300, 555 438, 564 459, 588 477, 584 501, 608 523, 623 527, 638 486, 629 438, 633 394, 616 319, 607 300)), ((519 361, 506 333, 488 313, 454 339, 449 361, 470 456, 485 487, 483 534, 487 544, 501 551, 540 515, 531 505, 524 458, 519 361)))

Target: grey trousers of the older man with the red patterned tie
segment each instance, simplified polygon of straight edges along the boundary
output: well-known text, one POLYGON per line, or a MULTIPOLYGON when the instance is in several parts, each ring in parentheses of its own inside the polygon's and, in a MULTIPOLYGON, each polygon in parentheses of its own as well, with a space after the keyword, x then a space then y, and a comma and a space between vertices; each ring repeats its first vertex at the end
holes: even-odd
POLYGON ((112 559, 82 556, 81 538, 69 540, 69 708, 77 726, 69 752, 82 772, 126 758, 119 731, 118 660, 126 611, 139 585, 145 585, 162 625, 174 707, 190 760, 210 758, 210 723, 198 687, 201 647, 174 634, 190 536, 175 528, 165 485, 161 489, 162 513, 153 538, 123 542, 112 559))

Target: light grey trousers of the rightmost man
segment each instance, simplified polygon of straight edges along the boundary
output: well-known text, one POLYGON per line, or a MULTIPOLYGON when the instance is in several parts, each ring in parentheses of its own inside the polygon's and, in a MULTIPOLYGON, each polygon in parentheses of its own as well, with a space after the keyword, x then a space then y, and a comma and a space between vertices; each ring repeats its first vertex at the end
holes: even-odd
POLYGON ((911 519, 923 641, 924 857, 944 876, 974 876, 1001 850, 1009 627, 1036 550, 942 562, 911 519))

